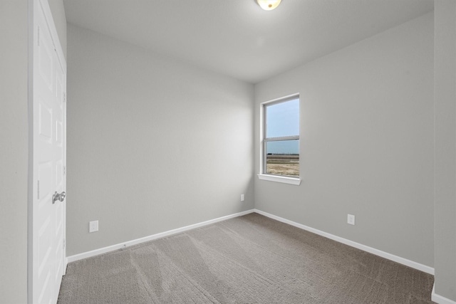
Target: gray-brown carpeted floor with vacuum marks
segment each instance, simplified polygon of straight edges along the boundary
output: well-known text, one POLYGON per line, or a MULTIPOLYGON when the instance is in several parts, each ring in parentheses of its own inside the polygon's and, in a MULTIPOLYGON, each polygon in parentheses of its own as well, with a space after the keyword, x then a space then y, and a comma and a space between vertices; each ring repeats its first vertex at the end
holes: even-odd
POLYGON ((58 303, 432 303, 433 282, 248 214, 70 263, 58 303))

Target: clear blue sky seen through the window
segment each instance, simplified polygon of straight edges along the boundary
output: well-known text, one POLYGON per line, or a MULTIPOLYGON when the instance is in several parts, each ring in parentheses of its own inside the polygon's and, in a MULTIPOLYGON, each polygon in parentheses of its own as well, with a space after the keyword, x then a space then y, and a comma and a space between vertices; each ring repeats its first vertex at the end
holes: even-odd
MULTIPOLYGON (((266 137, 299 135, 299 99, 266 107, 266 137)), ((299 140, 268 142, 267 153, 298 154, 299 140)))

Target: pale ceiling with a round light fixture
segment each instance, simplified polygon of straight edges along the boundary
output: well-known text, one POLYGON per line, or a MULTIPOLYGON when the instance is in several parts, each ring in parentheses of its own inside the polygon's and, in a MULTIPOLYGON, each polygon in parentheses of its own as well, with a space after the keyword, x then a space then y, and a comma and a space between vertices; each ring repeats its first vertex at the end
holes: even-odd
POLYGON ((434 8, 433 0, 63 0, 76 26, 249 83, 434 8))

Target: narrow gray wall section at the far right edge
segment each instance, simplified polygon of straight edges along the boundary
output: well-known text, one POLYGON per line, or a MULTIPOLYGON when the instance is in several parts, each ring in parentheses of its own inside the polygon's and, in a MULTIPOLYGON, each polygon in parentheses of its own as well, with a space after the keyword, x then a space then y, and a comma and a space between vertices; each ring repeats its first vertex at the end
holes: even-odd
POLYGON ((435 293, 456 301, 456 1, 435 1, 435 293))

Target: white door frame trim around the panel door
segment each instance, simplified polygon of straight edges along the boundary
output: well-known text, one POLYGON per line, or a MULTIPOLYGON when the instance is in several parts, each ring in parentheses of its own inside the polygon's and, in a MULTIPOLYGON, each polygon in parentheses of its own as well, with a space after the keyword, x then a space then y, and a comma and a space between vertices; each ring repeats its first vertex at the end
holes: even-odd
MULTIPOLYGON (((48 23, 49 31, 51 32, 51 38, 53 40, 54 46, 56 48, 56 53, 58 56, 58 60, 61 62, 63 73, 64 73, 64 87, 65 87, 65 103, 66 103, 66 58, 63 55, 63 48, 61 46, 61 42, 58 39, 58 33, 56 29, 56 25, 53 21, 53 17, 51 14, 51 9, 48 4, 48 0, 28 0, 28 195, 27 195, 27 303, 33 304, 33 197, 36 193, 36 184, 37 180, 34 179, 33 174, 33 124, 34 124, 34 117, 33 117, 33 107, 34 107, 34 100, 33 100, 33 52, 36 48, 33 45, 34 41, 34 21, 35 21, 35 9, 36 6, 41 6, 43 9, 44 16, 46 17, 46 21, 48 23)), ((63 149, 64 149, 64 166, 65 166, 65 174, 63 178, 65 180, 64 184, 66 184, 66 118, 67 118, 67 106, 65 105, 65 109, 63 111, 63 115, 65 117, 65 132, 64 137, 65 140, 63 142, 63 149)), ((66 191, 66 189, 65 189, 66 191)), ((63 204, 63 237, 66 240, 66 200, 65 204, 63 204)), ((66 241, 65 241, 66 243, 66 241)), ((36 250, 35 250, 36 252, 36 250)), ((63 275, 66 273, 66 266, 68 264, 68 258, 66 256, 66 245, 63 248, 63 275)))

